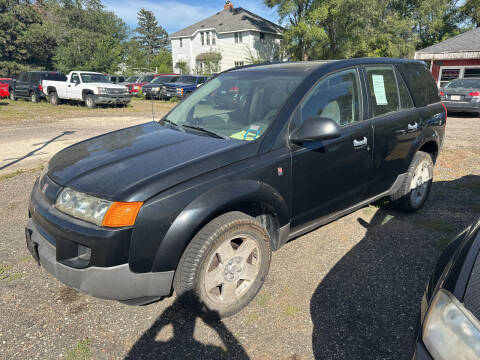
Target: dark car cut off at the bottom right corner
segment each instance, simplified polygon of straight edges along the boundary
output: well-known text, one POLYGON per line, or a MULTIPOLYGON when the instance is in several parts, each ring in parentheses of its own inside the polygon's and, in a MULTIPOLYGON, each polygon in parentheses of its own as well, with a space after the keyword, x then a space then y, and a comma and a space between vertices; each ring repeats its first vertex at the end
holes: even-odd
POLYGON ((413 358, 480 359, 480 219, 440 256, 428 282, 413 358))

